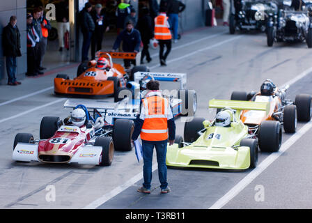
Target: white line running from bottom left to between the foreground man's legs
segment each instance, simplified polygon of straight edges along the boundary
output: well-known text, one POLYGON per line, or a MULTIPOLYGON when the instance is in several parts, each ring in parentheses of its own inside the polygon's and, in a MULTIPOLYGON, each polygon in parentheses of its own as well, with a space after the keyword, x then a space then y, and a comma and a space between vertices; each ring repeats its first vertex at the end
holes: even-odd
MULTIPOLYGON (((157 169, 157 164, 153 164, 152 171, 155 171, 156 169, 157 169)), ((140 172, 136 176, 132 177, 130 180, 127 180, 127 182, 124 183, 123 185, 120 185, 120 186, 116 187, 114 190, 111 190, 111 192, 108 192, 107 194, 104 194, 102 197, 100 197, 99 199, 97 199, 97 200, 93 201, 92 203, 88 204, 83 209, 95 209, 95 208, 98 208, 99 206, 101 206, 103 203, 105 203, 109 199, 115 197, 117 194, 120 194, 121 192, 126 190, 128 187, 134 185, 134 183, 136 183, 137 181, 141 180, 142 176, 143 176, 143 173, 140 172)))

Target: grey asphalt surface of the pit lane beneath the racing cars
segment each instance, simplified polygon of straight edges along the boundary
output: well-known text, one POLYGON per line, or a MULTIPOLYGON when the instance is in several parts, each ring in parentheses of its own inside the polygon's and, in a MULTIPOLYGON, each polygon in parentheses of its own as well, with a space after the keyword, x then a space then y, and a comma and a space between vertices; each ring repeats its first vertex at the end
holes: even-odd
MULTIPOLYGON (((148 64, 152 71, 187 73, 187 88, 195 89, 198 95, 196 116, 205 118, 213 118, 215 114, 214 110, 208 110, 208 100, 212 98, 228 99, 232 91, 258 91, 267 78, 281 86, 312 66, 312 51, 304 43, 279 43, 267 47, 263 33, 231 36, 222 26, 199 29, 182 36, 180 42, 173 45, 166 68, 159 67, 157 51, 153 50, 152 54, 155 56, 148 64)), ((76 68, 69 68, 62 73, 74 77, 75 71, 76 68)), ((142 165, 137 163, 134 151, 116 152, 110 167, 13 162, 13 139, 17 132, 32 132, 38 137, 43 116, 65 117, 70 112, 63 109, 65 98, 56 97, 53 89, 49 89, 55 75, 27 78, 14 90, 10 86, 0 86, 0 208, 84 208, 141 173, 142 165), (46 91, 2 105, 42 89, 46 91), (45 199, 47 185, 56 188, 55 202, 45 199)), ((312 73, 292 84, 289 98, 295 99, 298 93, 312 94, 311 82, 312 73)), ((298 130, 304 124, 299 123, 298 130)), ((177 134, 182 134, 183 126, 178 118, 177 134)), ((224 208, 311 208, 309 134, 311 130, 224 208), (263 202, 254 199, 256 185, 265 188, 263 202)), ((284 133, 283 142, 290 137, 291 134, 284 133)), ((268 155, 260 153, 259 163, 268 155)), ((169 194, 159 194, 155 171, 151 194, 136 192, 141 179, 98 208, 210 208, 250 171, 169 169, 172 190, 169 194)))

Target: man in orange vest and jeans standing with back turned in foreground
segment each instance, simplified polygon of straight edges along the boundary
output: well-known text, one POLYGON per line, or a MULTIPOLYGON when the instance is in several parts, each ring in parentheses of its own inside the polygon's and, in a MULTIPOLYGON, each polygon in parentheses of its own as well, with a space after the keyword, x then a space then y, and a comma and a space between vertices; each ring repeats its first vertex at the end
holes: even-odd
POLYGON ((169 145, 174 143, 176 137, 176 124, 169 100, 162 97, 159 92, 159 82, 150 80, 146 84, 149 92, 141 103, 141 113, 134 121, 135 127, 132 134, 132 142, 137 140, 141 134, 143 151, 143 186, 137 191, 150 194, 150 183, 152 181, 153 151, 156 148, 158 176, 160 192, 166 194, 171 192, 167 183, 166 151, 169 145))

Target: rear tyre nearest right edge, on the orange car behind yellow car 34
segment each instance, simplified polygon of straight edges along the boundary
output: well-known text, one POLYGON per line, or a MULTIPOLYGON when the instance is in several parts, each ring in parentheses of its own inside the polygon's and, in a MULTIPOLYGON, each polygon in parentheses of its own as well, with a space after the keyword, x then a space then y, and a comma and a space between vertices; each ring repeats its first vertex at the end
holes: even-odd
POLYGON ((296 95, 295 105, 297 107, 298 121, 311 120, 311 95, 296 95))

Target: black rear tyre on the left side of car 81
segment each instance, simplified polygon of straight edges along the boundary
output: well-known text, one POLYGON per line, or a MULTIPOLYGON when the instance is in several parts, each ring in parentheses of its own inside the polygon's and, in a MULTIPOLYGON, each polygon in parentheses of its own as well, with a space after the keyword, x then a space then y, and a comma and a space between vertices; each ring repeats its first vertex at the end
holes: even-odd
POLYGON ((61 127, 63 121, 60 117, 43 117, 40 123, 40 139, 49 139, 61 127))

